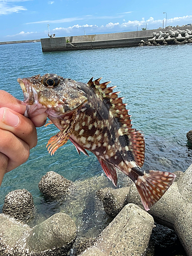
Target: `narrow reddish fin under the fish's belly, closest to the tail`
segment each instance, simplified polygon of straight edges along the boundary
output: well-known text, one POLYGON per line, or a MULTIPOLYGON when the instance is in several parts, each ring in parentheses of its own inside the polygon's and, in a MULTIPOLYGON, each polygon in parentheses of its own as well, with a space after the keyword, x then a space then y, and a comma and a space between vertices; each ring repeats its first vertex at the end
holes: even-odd
POLYGON ((115 186, 117 186, 117 172, 115 169, 115 166, 111 163, 108 163, 104 161, 103 159, 97 158, 99 163, 101 164, 102 169, 104 170, 104 173, 106 174, 106 177, 108 177, 115 186))

